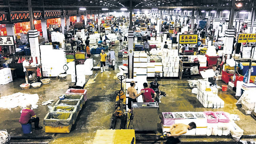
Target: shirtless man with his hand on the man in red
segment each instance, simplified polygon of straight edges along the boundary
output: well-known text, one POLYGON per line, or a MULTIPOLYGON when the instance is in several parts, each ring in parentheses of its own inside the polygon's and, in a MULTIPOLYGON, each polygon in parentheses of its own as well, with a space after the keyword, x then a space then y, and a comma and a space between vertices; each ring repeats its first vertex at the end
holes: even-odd
POLYGON ((128 87, 127 89, 127 94, 129 95, 128 98, 128 108, 129 108, 129 112, 131 111, 131 102, 137 102, 137 99, 142 93, 145 92, 145 90, 141 90, 141 92, 139 94, 137 94, 137 90, 134 88, 135 87, 135 82, 131 81, 130 83, 130 87, 128 87))

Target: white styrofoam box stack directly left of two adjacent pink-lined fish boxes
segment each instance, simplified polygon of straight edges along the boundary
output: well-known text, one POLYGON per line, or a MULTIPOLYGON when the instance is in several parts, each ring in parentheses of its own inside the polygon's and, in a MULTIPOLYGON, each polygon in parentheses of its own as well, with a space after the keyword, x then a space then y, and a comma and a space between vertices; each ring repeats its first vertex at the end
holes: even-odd
POLYGON ((196 135, 206 135, 207 131, 207 117, 203 112, 194 112, 194 115, 196 117, 195 123, 196 123, 196 135))

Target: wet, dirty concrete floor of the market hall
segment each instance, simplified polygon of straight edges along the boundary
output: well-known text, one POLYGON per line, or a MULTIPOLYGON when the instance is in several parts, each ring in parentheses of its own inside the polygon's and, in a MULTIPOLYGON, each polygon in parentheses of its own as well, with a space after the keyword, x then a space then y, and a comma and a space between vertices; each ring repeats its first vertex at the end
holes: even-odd
MULTIPOLYGON (((119 48, 119 42, 116 41, 115 53, 119 48)), ((94 66, 98 65, 99 56, 93 56, 94 66)), ((125 59, 125 58, 124 58, 125 59)), ((122 64, 123 58, 117 58, 116 69, 113 71, 109 69, 103 73, 94 71, 92 76, 87 76, 88 80, 85 85, 87 89, 88 100, 80 111, 76 119, 75 125, 72 126, 71 132, 68 134, 56 134, 55 138, 51 139, 50 144, 91 144, 94 139, 96 130, 109 129, 111 123, 111 116, 115 111, 115 90, 120 89, 120 83, 115 77, 119 72, 118 65, 122 64)), ((197 79, 199 77, 196 77, 197 79)), ((162 79, 159 81, 160 89, 167 92, 167 97, 161 99, 159 103, 159 115, 161 112, 183 112, 183 111, 225 111, 230 114, 238 114, 240 121, 236 124, 244 130, 244 135, 255 135, 256 125, 255 120, 251 116, 244 115, 243 111, 235 105, 237 100, 232 96, 234 92, 228 89, 227 92, 219 90, 219 97, 225 101, 222 109, 208 109, 203 108, 200 102, 196 99, 196 95, 191 93, 188 82, 178 79, 162 79)), ((148 79, 148 82, 151 82, 148 79)), ((40 125, 43 126, 43 118, 49 111, 47 106, 43 106, 42 102, 49 99, 54 99, 52 105, 57 101, 58 96, 65 93, 68 89, 68 84, 71 82, 70 76, 67 80, 58 80, 51 78, 51 83, 42 85, 38 89, 30 88, 28 90, 20 89, 19 85, 24 83, 24 79, 17 79, 14 82, 0 85, 0 97, 11 95, 16 92, 24 93, 38 93, 40 100, 38 102, 38 109, 34 110, 36 115, 40 117, 40 125)), ((218 85, 222 85, 218 81, 218 85)), ((20 108, 16 107, 11 110, 0 109, 0 129, 6 129, 12 136, 27 136, 24 135, 20 124, 18 123, 20 117, 20 108)), ((160 123, 160 119, 159 119, 160 123)), ((159 125, 160 126, 160 125, 159 125)), ((160 132, 160 131, 159 131, 160 132)), ((158 133, 159 134, 159 133, 158 133)), ((52 133, 44 133, 42 130, 34 131, 33 136, 54 136, 52 133)), ((181 139, 182 141, 232 141, 230 138, 203 138, 203 139, 181 139)), ((252 141, 254 139, 244 139, 252 141)))

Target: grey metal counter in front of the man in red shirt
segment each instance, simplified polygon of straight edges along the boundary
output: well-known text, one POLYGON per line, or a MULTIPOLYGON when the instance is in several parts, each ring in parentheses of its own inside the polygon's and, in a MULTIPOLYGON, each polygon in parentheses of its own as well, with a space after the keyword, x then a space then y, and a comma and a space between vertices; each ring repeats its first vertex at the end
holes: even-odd
POLYGON ((133 120, 131 127, 135 131, 157 131, 158 118, 158 103, 154 102, 152 106, 142 106, 150 104, 149 102, 132 102, 133 120), (133 106, 137 104, 138 106, 133 106))

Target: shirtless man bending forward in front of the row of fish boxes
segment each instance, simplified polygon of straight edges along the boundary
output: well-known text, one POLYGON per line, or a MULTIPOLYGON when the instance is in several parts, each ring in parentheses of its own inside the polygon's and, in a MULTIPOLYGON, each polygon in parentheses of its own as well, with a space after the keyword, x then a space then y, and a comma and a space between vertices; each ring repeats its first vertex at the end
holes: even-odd
POLYGON ((187 133, 187 130, 195 129, 196 124, 194 122, 189 123, 188 125, 185 124, 173 124, 171 128, 166 131, 170 132, 167 133, 167 141, 166 144, 177 144, 181 141, 179 140, 178 136, 187 133))

